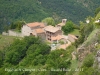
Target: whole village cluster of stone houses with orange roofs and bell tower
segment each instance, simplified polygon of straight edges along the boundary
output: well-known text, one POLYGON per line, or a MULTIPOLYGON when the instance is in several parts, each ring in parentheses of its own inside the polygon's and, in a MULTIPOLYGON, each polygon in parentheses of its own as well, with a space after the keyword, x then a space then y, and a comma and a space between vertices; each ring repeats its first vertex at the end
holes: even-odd
POLYGON ((56 49, 66 49, 78 38, 75 35, 68 34, 64 35, 64 32, 61 30, 67 22, 67 19, 62 19, 62 22, 52 26, 46 25, 42 22, 33 22, 27 23, 22 26, 21 33, 17 33, 13 30, 8 30, 8 33, 3 32, 2 35, 8 36, 35 36, 40 37, 42 40, 48 42, 48 45, 51 46, 51 50, 56 49))

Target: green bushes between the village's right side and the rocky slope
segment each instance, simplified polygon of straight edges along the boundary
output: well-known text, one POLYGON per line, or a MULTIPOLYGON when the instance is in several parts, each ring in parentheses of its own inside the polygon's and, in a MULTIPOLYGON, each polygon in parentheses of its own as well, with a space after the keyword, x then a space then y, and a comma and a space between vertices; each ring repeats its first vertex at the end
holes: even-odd
POLYGON ((76 47, 79 44, 82 44, 85 40, 87 40, 87 37, 90 35, 90 33, 95 29, 94 26, 94 18, 88 17, 87 20, 89 20, 89 23, 80 22, 80 37, 75 42, 76 47))

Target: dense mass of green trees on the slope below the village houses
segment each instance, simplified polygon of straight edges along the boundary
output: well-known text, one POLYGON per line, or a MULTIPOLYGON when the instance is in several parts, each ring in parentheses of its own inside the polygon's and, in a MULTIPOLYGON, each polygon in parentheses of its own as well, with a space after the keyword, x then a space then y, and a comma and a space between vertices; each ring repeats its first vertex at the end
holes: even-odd
POLYGON ((33 36, 22 40, 15 40, 9 47, 0 53, 0 74, 2 75, 64 75, 71 65, 71 52, 75 50, 70 46, 68 50, 55 50, 50 52, 50 47, 39 38, 33 36), (35 69, 36 71, 33 71, 35 69), (25 71, 26 70, 26 71, 25 71), (28 71, 27 71, 28 70, 28 71), (32 70, 32 71, 30 71, 32 70), (44 71, 42 71, 44 70, 44 71))

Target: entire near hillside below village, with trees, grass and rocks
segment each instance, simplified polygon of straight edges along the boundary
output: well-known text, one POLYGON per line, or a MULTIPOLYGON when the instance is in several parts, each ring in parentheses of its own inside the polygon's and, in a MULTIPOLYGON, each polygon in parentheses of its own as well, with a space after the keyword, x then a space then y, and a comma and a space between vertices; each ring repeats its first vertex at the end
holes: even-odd
POLYGON ((51 51, 39 37, 0 35, 0 75, 100 75, 99 18, 100 13, 88 17, 89 23, 81 22, 79 30, 71 32, 80 34, 78 40, 65 50, 51 51))

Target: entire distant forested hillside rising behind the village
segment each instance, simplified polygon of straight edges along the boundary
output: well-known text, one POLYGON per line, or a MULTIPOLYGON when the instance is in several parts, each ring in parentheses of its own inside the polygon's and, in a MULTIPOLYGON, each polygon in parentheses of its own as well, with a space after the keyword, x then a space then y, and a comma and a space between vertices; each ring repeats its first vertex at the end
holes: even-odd
POLYGON ((16 20, 41 21, 46 17, 55 20, 67 18, 75 23, 93 16, 100 0, 0 0, 0 31, 16 20))

